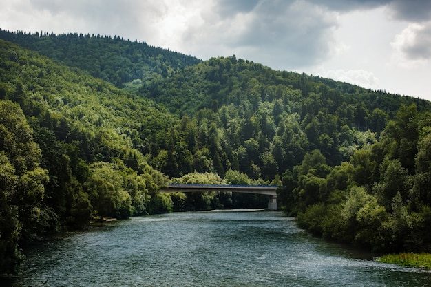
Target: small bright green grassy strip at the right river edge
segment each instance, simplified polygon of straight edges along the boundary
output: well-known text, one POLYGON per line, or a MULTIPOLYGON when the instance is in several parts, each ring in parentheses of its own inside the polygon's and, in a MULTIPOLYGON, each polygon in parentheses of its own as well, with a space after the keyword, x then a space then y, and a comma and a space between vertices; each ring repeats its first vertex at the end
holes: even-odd
POLYGON ((378 262, 398 264, 401 266, 418 267, 431 270, 430 253, 400 253, 383 255, 378 262))

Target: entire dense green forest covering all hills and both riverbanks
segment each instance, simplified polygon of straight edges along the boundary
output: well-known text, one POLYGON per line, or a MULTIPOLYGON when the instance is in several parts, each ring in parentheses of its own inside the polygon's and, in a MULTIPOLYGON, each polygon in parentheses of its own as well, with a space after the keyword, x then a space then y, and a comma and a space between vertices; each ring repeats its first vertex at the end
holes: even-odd
POLYGON ((431 103, 118 36, 0 30, 0 270, 45 233, 266 206, 169 182, 277 184, 303 228, 431 251, 431 103))

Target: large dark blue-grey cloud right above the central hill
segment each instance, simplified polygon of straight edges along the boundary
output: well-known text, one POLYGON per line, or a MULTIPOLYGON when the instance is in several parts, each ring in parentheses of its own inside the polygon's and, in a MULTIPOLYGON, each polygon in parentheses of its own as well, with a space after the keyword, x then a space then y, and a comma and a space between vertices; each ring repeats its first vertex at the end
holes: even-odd
POLYGON ((285 61, 309 65, 324 58, 333 41, 335 15, 307 3, 266 3, 255 10, 256 20, 238 39, 241 45, 279 50, 285 61))

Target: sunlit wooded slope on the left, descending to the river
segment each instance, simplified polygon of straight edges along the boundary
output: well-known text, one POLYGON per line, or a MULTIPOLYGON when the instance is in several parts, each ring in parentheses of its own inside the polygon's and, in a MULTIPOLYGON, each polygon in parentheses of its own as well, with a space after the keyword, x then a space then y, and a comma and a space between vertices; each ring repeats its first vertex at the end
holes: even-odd
POLYGON ((140 150, 174 122, 150 100, 0 41, 0 269, 45 231, 166 211, 167 178, 140 150))

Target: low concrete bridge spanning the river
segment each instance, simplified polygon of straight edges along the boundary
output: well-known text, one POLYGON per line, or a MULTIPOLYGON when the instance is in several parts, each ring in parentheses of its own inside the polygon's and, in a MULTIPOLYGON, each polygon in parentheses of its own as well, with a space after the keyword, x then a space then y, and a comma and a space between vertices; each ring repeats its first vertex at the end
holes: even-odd
POLYGON ((268 195, 268 209, 277 210, 277 186, 276 185, 228 185, 228 184, 169 184, 160 188, 160 192, 238 192, 268 195))

